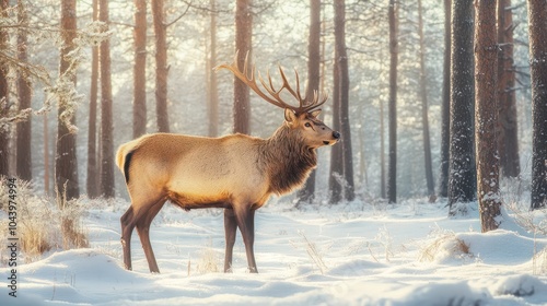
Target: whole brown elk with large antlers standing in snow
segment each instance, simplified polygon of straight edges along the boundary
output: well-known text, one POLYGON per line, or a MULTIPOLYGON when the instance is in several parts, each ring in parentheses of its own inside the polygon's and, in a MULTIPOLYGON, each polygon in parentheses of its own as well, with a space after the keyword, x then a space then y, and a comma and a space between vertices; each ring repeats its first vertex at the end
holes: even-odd
POLYGON ((283 70, 279 72, 283 84, 272 85, 268 73, 266 90, 260 90, 254 75, 248 73, 247 58, 243 71, 233 63, 216 69, 231 71, 266 102, 284 109, 284 122, 268 139, 246 134, 206 138, 173 133, 142 136, 119 146, 116 164, 125 176, 131 205, 120 219, 121 246, 125 268, 131 270, 130 239, 135 227, 148 260, 150 272, 159 273, 150 244, 150 224, 168 200, 186 211, 202 208, 224 209, 225 257, 224 272, 232 271, 232 254, 237 227, 240 228, 248 270, 257 273, 254 256, 254 216, 271 195, 284 195, 300 187, 317 164, 315 150, 333 145, 340 133, 333 131, 317 116, 327 99, 314 92, 313 98, 302 97, 296 70, 296 90, 288 83, 283 70), (286 90, 300 105, 293 106, 281 98, 286 90))

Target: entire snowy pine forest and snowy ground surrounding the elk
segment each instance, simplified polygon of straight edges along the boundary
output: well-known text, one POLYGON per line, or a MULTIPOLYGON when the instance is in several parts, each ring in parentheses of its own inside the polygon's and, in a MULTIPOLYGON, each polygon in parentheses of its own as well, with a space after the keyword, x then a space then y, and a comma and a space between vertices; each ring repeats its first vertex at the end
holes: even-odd
POLYGON ((545 305, 546 89, 545 0, 0 0, 0 304, 545 305), (213 69, 246 54, 341 141, 257 211, 260 274, 175 205, 124 269, 121 143, 283 122, 213 69))

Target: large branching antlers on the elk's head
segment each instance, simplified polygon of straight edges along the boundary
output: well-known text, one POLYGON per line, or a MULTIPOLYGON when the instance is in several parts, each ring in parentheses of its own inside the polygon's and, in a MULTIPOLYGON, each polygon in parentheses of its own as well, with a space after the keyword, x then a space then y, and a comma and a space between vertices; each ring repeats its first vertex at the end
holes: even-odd
POLYGON ((284 75, 283 69, 281 66, 279 66, 279 73, 281 74, 281 79, 283 80, 283 84, 279 90, 276 90, 274 87, 274 83, 271 82, 271 76, 270 73, 268 72, 268 81, 269 85, 266 84, 266 82, 263 80, 260 72, 258 72, 258 80, 260 81, 260 84, 266 90, 266 92, 269 94, 264 93, 259 86, 256 84, 256 78, 255 78, 255 66, 251 68, 251 75, 248 74, 247 70, 247 59, 248 59, 248 52, 245 56, 245 62, 243 64, 243 71, 240 70, 237 67, 237 52, 235 52, 234 56, 234 61, 231 64, 220 64, 214 68, 214 70, 220 70, 220 69, 228 69, 230 70, 237 79, 240 79, 244 84, 249 86, 257 95, 259 95, 261 98, 266 99, 267 102, 281 107, 281 108, 289 108, 292 109, 296 115, 304 114, 307 111, 311 111, 312 109, 315 109, 323 105, 327 98, 328 95, 325 94, 325 92, 322 93, 321 98, 319 95, 317 94, 317 91, 313 91, 313 99, 307 101, 307 96, 302 97, 300 94, 300 80, 299 80, 299 72, 294 69, 294 74, 296 75, 296 91, 294 91, 291 85, 289 85, 289 82, 287 81, 287 76, 284 75), (281 91, 287 90, 294 98, 299 101, 300 106, 293 106, 288 104, 281 98, 281 91))

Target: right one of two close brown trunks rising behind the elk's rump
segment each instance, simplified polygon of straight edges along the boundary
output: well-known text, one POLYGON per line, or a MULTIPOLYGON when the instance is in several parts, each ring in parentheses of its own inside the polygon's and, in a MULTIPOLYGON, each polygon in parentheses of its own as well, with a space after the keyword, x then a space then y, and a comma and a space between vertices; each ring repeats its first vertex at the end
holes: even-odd
POLYGON ((152 15, 155 33, 155 110, 158 131, 168 132, 167 113, 167 27, 165 25, 164 0, 152 0, 152 15))

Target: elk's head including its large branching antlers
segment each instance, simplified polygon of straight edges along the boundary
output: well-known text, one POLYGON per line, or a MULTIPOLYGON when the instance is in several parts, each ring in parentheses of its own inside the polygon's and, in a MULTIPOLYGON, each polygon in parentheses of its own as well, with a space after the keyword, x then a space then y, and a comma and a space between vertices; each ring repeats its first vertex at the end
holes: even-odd
POLYGON ((286 125, 293 131, 300 133, 301 138, 304 140, 306 145, 311 149, 316 149, 323 145, 333 145, 340 139, 340 133, 333 131, 327 127, 322 120, 318 119, 318 115, 322 106, 328 98, 325 92, 319 95, 316 90, 313 91, 313 97, 307 95, 302 97, 300 93, 300 78, 296 70, 294 70, 294 75, 296 80, 296 90, 293 90, 289 85, 289 81, 284 74, 283 69, 279 66, 279 74, 283 81, 282 85, 276 90, 271 81, 271 76, 268 72, 268 83, 264 81, 258 72, 258 81, 266 92, 260 90, 256 83, 255 76, 255 66, 248 71, 247 66, 248 54, 245 56, 245 62, 243 64, 243 71, 237 67, 237 52, 234 56, 234 61, 231 64, 220 64, 216 67, 216 70, 228 69, 230 70, 240 81, 252 89, 258 96, 267 101, 268 103, 284 109, 284 120, 286 125), (290 96, 299 102, 299 106, 293 106, 287 103, 281 94, 286 91, 290 96))

